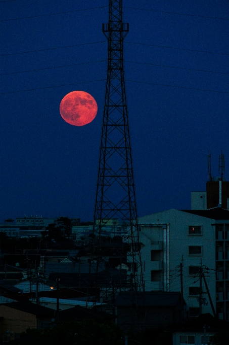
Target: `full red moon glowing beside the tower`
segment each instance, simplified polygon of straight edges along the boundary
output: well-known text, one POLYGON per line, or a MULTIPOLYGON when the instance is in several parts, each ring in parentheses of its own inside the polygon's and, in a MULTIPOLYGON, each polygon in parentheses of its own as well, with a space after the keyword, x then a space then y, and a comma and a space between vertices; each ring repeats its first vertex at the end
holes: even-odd
POLYGON ((72 91, 60 103, 62 118, 73 126, 84 126, 96 117, 98 106, 95 98, 85 91, 72 91))

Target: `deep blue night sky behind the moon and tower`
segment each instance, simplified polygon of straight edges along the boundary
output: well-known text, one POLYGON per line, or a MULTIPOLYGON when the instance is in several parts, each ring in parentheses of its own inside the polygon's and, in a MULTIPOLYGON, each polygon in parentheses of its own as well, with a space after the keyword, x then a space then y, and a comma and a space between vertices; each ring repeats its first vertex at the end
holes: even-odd
MULTIPOLYGON (((93 220, 108 4, 0 1, 1 220, 93 220), (98 103, 97 117, 82 127, 59 112, 74 90, 98 103)), ((190 209, 191 191, 206 190, 209 149, 212 175, 222 149, 229 179, 229 2, 123 0, 123 21, 138 214, 190 209)))

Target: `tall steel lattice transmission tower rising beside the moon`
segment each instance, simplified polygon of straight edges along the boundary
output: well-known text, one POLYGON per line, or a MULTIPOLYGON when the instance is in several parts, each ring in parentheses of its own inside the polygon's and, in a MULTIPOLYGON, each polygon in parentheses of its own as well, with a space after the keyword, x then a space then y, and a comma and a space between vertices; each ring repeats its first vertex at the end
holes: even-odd
POLYGON ((109 22, 103 24, 108 40, 108 66, 90 262, 97 263, 91 286, 98 286, 99 272, 104 269, 101 234, 111 220, 117 220, 121 224, 117 234, 122 244, 116 248, 127 256, 129 269, 124 278, 120 260, 122 277, 118 282, 107 283, 105 299, 109 299, 110 293, 114 301, 118 292, 129 291, 131 303, 138 306, 137 292, 144 290, 144 283, 123 67, 123 41, 128 28, 129 24, 122 21, 122 0, 109 0, 109 22))

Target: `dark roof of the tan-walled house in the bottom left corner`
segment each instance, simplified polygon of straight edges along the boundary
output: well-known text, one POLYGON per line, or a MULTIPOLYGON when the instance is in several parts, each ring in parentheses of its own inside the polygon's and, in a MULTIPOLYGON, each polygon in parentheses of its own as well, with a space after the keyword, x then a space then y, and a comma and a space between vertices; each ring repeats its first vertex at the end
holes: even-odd
POLYGON ((20 301, 20 302, 10 302, 10 303, 1 303, 1 305, 6 305, 13 309, 22 310, 23 312, 36 315, 36 318, 42 317, 54 317, 55 310, 47 308, 45 306, 34 304, 30 301, 20 301))

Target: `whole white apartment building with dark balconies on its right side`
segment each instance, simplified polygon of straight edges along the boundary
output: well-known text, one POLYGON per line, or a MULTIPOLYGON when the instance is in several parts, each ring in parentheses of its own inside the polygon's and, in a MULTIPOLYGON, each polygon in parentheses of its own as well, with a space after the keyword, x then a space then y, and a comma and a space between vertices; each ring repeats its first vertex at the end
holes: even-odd
MULTIPOLYGON (((168 210, 139 218, 139 227, 145 290, 180 291, 182 263, 184 298, 198 315, 202 264, 216 314, 229 320, 229 210, 168 210)), ((202 292, 202 313, 213 314, 203 280, 202 292)))

